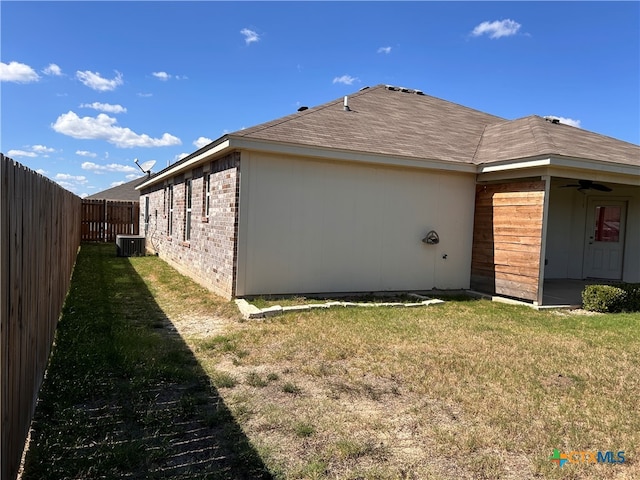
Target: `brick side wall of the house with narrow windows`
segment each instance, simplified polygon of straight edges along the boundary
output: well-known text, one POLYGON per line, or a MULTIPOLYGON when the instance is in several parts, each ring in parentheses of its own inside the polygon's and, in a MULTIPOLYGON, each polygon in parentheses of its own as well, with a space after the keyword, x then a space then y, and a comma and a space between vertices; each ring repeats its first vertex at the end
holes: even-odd
POLYGON ((213 292, 235 295, 240 154, 141 192, 140 232, 145 232, 145 196, 149 196, 147 248, 213 292), (209 212, 207 216, 207 177, 209 212), (191 182, 191 232, 186 238, 187 185, 191 182), (170 190, 173 187, 173 215, 170 190), (173 229, 169 232, 169 220, 173 229))

